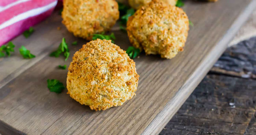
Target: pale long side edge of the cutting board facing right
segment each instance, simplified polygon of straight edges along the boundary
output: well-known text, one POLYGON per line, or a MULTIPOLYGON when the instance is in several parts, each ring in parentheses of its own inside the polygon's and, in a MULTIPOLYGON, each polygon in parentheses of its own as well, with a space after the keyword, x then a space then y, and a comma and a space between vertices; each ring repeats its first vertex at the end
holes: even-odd
POLYGON ((180 107, 184 104, 184 102, 191 95, 194 89, 202 81, 202 79, 208 73, 213 64, 222 55, 222 53, 228 47, 228 43, 231 42, 232 38, 234 38, 237 31, 246 22, 246 20, 249 18, 249 16, 251 15, 255 8, 256 0, 252 0, 247 5, 245 10, 238 15, 238 17, 230 26, 228 31, 226 31, 224 36, 219 40, 219 42, 217 42, 216 46, 213 47, 213 49, 211 49, 210 53, 208 53, 208 55, 198 65, 198 67, 195 69, 195 72, 193 72, 193 74, 186 80, 184 85, 180 87, 180 89, 174 95, 174 97, 171 100, 169 100, 169 102, 167 102, 165 107, 156 115, 156 117, 150 122, 150 124, 148 124, 147 128, 145 128, 141 135, 158 135, 161 132, 164 126, 171 120, 174 114, 178 111, 178 109, 180 109, 180 107), (212 58, 212 56, 214 55, 216 57, 212 58), (205 66, 205 62, 210 62, 210 64, 205 66), (186 96, 185 98, 184 95, 186 96), (178 106, 172 106, 172 104, 177 104, 178 106), (171 111, 173 111, 173 113, 169 114, 169 112, 171 111))

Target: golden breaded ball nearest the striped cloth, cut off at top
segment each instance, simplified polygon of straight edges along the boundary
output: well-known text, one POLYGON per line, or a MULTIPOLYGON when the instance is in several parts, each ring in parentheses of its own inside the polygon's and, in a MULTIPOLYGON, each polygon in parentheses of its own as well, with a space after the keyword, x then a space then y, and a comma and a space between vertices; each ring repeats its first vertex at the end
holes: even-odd
POLYGON ((109 31, 119 18, 115 0, 63 0, 61 14, 69 32, 87 40, 109 31))

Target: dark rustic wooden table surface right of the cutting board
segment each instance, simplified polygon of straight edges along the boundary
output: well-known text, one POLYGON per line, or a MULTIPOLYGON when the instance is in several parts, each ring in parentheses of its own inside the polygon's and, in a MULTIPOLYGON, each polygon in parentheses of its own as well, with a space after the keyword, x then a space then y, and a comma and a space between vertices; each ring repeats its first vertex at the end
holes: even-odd
POLYGON ((256 135, 256 37, 228 48, 160 135, 256 135))

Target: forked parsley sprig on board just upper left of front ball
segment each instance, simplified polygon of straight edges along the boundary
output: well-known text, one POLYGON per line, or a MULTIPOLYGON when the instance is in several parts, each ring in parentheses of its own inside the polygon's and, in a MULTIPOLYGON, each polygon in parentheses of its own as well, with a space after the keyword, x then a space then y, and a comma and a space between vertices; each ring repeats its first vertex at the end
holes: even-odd
POLYGON ((59 47, 56 51, 53 51, 50 56, 51 57, 59 57, 59 55, 63 53, 64 57, 65 57, 65 61, 69 58, 69 48, 68 45, 65 41, 65 38, 62 38, 61 43, 59 44, 59 47))

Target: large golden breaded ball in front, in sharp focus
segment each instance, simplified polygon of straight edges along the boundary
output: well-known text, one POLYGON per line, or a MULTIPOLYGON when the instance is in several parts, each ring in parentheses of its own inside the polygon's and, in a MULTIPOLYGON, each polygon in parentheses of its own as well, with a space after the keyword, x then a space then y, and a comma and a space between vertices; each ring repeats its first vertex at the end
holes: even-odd
POLYGON ((105 110, 121 106, 137 90, 135 62, 111 40, 93 40, 74 54, 67 75, 68 94, 74 100, 105 110))

